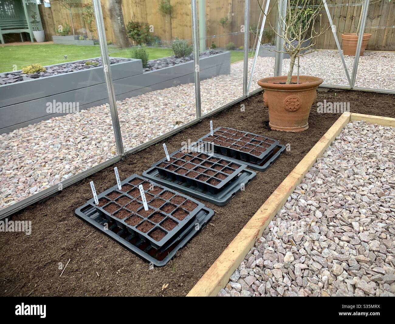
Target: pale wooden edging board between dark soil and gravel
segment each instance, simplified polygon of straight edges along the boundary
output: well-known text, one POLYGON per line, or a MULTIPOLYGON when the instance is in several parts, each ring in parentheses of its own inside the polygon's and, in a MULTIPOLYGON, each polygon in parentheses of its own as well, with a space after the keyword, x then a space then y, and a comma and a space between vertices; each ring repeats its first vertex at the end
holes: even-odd
POLYGON ((228 284, 229 277, 239 267, 250 248, 254 246, 256 239, 261 237, 264 229, 273 220, 278 210, 286 203, 295 187, 301 183, 305 174, 322 156, 342 129, 354 120, 365 120, 374 124, 395 127, 395 118, 344 112, 252 216, 224 252, 190 290, 186 295, 187 297, 216 296, 219 290, 228 284))

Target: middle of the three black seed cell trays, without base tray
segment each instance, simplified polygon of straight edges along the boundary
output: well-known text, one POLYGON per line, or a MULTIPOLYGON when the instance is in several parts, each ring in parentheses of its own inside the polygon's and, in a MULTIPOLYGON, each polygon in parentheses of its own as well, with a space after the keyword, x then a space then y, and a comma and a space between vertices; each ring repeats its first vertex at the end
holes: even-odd
POLYGON ((184 152, 183 148, 171 153, 170 161, 164 158, 152 166, 162 176, 186 182, 214 194, 246 168, 243 163, 220 156, 214 157, 207 152, 184 152))

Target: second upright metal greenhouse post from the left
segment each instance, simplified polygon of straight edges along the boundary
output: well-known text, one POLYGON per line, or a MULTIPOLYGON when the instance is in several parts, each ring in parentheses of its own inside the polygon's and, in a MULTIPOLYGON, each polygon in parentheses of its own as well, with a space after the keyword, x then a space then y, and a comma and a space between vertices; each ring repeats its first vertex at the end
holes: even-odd
MULTIPOLYGON (((201 98, 200 98, 200 76, 199 76, 199 32, 198 32, 198 8, 196 0, 191 0, 192 13, 192 46, 194 50, 194 76, 195 76, 195 100, 196 118, 201 118, 201 98)), ((206 36, 206 35, 204 35, 206 36)))

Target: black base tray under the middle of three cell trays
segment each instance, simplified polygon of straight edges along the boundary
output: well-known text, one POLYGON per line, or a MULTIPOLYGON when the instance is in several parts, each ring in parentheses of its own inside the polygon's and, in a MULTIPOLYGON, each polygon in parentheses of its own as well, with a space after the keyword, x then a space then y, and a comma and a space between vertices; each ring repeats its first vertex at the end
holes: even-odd
POLYGON ((242 190, 243 186, 246 187, 256 177, 256 172, 244 169, 237 177, 233 178, 233 180, 229 182, 227 186, 223 187, 218 193, 214 194, 210 191, 204 191, 199 187, 190 186, 186 182, 180 183, 177 181, 177 179, 168 178, 167 176, 159 174, 158 171, 159 170, 156 167, 152 167, 143 172, 143 177, 160 183, 163 186, 176 189, 205 201, 209 201, 210 203, 218 206, 226 205, 234 195, 242 190))

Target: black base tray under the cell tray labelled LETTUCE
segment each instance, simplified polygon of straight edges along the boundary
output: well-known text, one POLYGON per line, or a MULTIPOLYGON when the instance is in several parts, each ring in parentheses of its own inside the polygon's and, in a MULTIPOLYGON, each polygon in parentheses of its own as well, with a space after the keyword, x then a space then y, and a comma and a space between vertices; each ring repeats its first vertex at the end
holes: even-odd
MULTIPOLYGON (((177 194, 180 195, 179 193, 177 194)), ((160 249, 153 248, 147 241, 142 240, 139 235, 130 233, 127 229, 119 227, 115 222, 107 220, 103 214, 98 212, 94 203, 93 205, 92 203, 87 203, 77 208, 75 214, 140 258, 157 267, 162 267, 166 265, 166 263, 175 256, 177 251, 183 248, 199 230, 207 225, 211 217, 213 217, 214 211, 207 207, 200 208, 196 213, 194 222, 184 227, 177 237, 173 237, 168 246, 160 249)))

